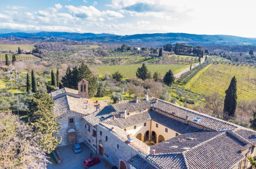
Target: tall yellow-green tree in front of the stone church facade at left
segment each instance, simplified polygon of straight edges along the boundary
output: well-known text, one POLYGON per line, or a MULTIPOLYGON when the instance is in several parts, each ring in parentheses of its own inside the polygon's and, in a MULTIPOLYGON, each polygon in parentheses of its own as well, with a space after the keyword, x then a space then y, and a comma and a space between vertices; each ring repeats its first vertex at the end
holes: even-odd
POLYGON ((33 131, 40 136, 38 143, 42 150, 51 153, 61 143, 61 139, 54 137, 60 129, 59 122, 53 116, 54 102, 48 93, 35 94, 28 105, 28 121, 33 131))

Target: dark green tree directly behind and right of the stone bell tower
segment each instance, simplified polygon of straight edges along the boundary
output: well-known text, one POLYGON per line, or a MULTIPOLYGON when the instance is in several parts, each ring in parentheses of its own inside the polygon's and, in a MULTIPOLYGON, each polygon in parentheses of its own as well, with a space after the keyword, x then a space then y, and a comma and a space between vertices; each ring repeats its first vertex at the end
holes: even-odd
MULTIPOLYGON (((85 79, 89 82, 88 90, 89 90, 89 97, 95 96, 97 93, 97 78, 93 76, 91 70, 87 65, 84 63, 81 64, 78 68, 78 79, 82 80, 85 79)), ((77 87, 76 87, 77 88, 77 87)))

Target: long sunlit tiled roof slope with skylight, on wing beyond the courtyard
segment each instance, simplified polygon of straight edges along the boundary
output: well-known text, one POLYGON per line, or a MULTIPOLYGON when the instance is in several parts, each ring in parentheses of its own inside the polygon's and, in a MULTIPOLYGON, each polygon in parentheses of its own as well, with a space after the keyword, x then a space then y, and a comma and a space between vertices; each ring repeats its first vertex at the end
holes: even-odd
POLYGON ((205 126, 206 128, 211 130, 222 131, 222 130, 231 130, 231 129, 237 128, 235 125, 229 122, 225 122, 221 119, 216 119, 211 116, 207 116, 205 114, 201 114, 199 112, 192 111, 192 110, 180 107, 179 105, 175 105, 160 99, 157 102, 155 102, 154 99, 150 99, 150 101, 151 103, 153 103, 153 108, 172 114, 176 117, 180 117, 184 120, 186 119, 186 116, 188 116, 189 121, 195 124, 205 126))

